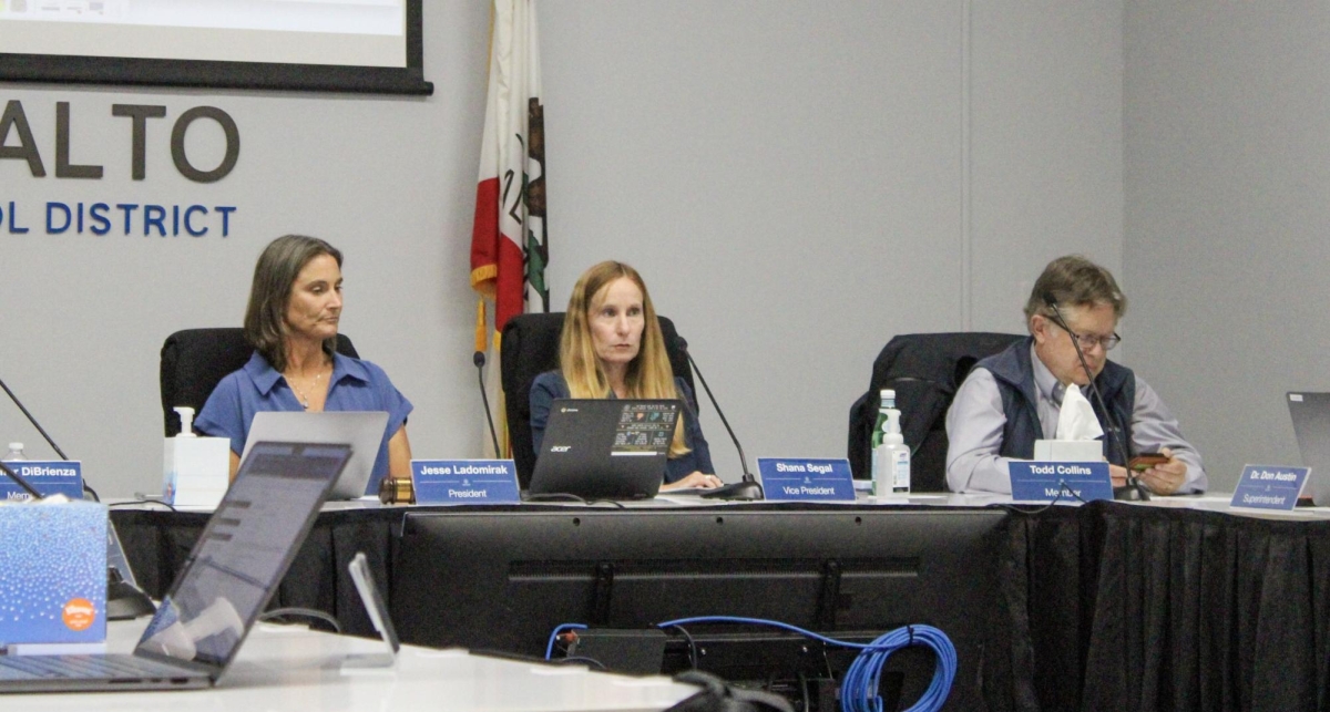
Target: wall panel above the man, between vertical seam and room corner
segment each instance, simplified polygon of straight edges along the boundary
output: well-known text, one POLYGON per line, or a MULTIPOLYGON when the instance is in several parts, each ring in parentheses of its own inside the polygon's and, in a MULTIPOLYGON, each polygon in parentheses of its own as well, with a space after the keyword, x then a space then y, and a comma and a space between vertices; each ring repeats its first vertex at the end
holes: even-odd
POLYGON ((1060 255, 1121 272, 1121 3, 974 5, 975 331, 1024 333, 1031 287, 1060 255))

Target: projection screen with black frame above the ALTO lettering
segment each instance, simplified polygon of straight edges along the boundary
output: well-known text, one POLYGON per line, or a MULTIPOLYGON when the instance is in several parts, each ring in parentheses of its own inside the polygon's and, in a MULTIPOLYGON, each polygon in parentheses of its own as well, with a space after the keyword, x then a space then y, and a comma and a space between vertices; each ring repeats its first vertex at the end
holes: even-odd
POLYGON ((422 0, 0 0, 0 80, 428 94, 422 0))

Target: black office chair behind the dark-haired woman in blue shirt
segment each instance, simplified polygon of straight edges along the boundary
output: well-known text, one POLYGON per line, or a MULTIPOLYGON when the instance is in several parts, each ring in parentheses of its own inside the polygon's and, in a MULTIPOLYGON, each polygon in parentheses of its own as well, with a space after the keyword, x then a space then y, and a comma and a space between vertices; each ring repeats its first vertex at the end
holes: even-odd
MULTIPOLYGON (((346 335, 336 335, 336 351, 359 359, 346 335)), ((249 361, 254 347, 245 340, 245 329, 184 329, 162 344, 161 392, 166 437, 180 434, 180 416, 172 408, 188 405, 200 412, 217 384, 231 371, 249 361)))

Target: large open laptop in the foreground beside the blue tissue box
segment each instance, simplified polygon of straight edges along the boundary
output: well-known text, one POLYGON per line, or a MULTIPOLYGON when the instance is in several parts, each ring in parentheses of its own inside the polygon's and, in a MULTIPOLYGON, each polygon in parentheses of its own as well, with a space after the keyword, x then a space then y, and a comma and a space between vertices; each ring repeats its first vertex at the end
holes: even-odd
POLYGON ((350 458, 347 445, 255 444, 133 655, 0 656, 0 692, 215 684, 350 458))

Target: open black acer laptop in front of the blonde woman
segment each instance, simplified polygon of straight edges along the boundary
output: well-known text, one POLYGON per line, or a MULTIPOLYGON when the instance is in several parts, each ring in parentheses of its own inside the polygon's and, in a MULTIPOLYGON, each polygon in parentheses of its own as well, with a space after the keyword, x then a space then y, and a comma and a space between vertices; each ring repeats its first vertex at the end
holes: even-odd
POLYGON ((536 453, 531 494, 656 497, 680 408, 678 400, 556 400, 536 453))

